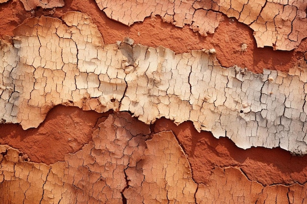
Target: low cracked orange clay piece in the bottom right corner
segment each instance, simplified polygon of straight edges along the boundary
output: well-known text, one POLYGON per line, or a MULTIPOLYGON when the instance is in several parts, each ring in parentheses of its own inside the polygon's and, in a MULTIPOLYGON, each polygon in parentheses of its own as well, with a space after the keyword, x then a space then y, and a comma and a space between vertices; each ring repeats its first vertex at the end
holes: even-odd
POLYGON ((306 190, 306 184, 297 183, 262 186, 256 181, 249 181, 239 169, 218 167, 210 176, 209 183, 198 186, 195 198, 197 204, 305 204, 306 190))

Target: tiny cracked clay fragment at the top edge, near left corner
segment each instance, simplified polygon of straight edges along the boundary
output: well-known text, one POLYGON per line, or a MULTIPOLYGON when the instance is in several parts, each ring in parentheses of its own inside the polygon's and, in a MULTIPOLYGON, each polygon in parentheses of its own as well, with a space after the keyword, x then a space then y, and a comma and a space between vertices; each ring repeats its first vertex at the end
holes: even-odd
POLYGON ((20 0, 26 9, 31 11, 36 7, 55 8, 64 6, 64 0, 20 0))

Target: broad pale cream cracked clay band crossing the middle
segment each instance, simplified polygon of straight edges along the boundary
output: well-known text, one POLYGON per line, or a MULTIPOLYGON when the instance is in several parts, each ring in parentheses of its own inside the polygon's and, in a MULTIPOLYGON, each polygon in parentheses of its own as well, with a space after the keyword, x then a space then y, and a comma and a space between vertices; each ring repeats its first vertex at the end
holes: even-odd
POLYGON ((55 105, 130 111, 149 124, 166 117, 227 136, 238 147, 307 154, 306 68, 289 75, 219 66, 215 50, 175 55, 164 47, 104 45, 91 19, 31 18, 1 41, 0 117, 37 127, 55 105))

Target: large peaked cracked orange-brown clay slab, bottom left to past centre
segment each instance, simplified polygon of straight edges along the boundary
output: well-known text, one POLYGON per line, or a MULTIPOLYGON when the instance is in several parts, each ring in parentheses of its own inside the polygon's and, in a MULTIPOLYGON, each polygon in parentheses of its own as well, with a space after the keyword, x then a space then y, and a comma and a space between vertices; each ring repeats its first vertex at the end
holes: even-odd
POLYGON ((0 145, 0 201, 121 204, 125 195, 128 203, 195 203, 197 184, 175 136, 164 132, 146 141, 149 134, 149 126, 130 114, 111 114, 92 142, 49 166, 0 145))

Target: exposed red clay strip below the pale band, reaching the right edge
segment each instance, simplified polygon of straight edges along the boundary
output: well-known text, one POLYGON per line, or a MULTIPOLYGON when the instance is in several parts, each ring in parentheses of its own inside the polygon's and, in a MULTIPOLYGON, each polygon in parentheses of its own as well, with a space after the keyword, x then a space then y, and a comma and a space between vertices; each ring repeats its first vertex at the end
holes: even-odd
POLYGON ((229 138, 217 139, 210 132, 204 131, 198 133, 192 122, 177 126, 161 118, 152 125, 153 133, 168 130, 173 131, 188 155, 193 179, 197 183, 207 183, 216 166, 238 167, 249 180, 263 185, 307 182, 307 156, 293 156, 281 148, 252 147, 243 150, 229 138))

